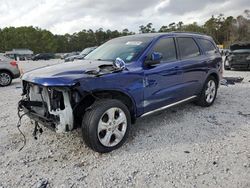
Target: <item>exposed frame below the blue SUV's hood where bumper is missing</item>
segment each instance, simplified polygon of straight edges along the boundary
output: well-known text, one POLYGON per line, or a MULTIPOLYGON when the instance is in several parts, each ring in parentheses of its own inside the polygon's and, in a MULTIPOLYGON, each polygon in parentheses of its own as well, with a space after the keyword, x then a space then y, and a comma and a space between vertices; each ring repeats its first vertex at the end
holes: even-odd
POLYGON ((46 87, 23 81, 19 109, 32 120, 56 131, 74 128, 72 93, 68 87, 46 87))

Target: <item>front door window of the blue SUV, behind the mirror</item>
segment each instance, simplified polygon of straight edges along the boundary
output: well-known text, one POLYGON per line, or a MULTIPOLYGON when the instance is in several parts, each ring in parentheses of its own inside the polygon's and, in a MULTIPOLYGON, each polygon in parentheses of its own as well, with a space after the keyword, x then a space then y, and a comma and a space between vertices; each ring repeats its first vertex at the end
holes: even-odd
POLYGON ((173 38, 163 38, 157 41, 153 47, 153 52, 160 52, 162 54, 162 61, 177 59, 175 42, 173 38))

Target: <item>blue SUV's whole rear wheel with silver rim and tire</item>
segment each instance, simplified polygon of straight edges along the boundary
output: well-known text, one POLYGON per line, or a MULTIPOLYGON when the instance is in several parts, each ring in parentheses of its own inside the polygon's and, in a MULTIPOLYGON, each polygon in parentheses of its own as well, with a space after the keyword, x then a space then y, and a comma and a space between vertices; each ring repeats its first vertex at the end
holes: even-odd
POLYGON ((196 103, 203 107, 211 106, 216 99, 217 90, 218 81, 213 76, 209 76, 196 103))

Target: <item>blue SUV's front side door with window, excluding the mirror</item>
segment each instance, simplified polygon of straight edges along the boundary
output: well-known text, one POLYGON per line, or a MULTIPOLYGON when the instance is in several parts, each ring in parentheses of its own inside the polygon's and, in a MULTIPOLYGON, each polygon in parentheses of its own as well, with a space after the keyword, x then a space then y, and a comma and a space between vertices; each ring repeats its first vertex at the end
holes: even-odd
POLYGON ((180 62, 174 38, 161 38, 151 49, 163 58, 160 64, 144 69, 144 113, 179 100, 181 93, 180 62))

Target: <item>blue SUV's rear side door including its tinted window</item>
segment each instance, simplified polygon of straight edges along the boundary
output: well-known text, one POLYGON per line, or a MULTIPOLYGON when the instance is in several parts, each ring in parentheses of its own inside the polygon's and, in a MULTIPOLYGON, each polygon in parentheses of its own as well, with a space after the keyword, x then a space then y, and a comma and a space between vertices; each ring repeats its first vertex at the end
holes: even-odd
POLYGON ((197 95, 206 76, 208 58, 202 53, 193 37, 177 37, 180 69, 182 70, 182 96, 188 98, 197 95))

